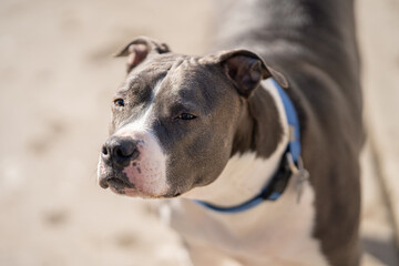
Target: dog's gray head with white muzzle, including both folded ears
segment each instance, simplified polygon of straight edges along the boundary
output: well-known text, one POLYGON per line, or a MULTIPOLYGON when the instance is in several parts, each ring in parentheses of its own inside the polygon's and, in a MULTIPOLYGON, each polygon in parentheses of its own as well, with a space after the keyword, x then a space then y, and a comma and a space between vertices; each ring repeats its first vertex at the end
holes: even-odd
POLYGON ((137 38, 112 103, 99 182, 130 196, 173 197, 212 183, 239 146, 249 146, 247 100, 262 79, 285 79, 246 50, 206 57, 172 53, 137 38))

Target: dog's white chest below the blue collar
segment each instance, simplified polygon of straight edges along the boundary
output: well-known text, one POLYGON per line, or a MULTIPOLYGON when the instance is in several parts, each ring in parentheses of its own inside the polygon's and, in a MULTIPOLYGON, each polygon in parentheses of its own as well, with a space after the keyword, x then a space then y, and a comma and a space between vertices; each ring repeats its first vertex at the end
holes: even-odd
POLYGON ((278 201, 239 214, 215 213, 178 200, 170 206, 170 223, 188 244, 212 247, 244 265, 328 265, 313 237, 313 188, 306 185, 298 204, 293 186, 291 182, 278 201))

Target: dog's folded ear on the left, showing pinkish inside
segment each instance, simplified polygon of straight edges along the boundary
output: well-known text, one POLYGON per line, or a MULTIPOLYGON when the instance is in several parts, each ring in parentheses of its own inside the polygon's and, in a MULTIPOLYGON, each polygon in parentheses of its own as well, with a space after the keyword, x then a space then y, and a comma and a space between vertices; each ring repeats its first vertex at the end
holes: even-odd
POLYGON ((165 43, 161 43, 147 37, 137 37, 127 45, 125 45, 114 57, 127 57, 127 73, 137 64, 143 62, 151 53, 167 53, 170 48, 165 43))

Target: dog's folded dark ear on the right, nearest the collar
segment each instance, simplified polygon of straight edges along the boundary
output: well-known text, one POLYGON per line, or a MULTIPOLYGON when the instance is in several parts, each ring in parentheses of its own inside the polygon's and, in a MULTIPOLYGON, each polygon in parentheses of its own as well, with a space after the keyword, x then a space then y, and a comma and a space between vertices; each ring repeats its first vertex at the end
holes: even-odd
POLYGON ((283 88, 288 88, 287 79, 266 65, 256 54, 247 50, 232 50, 217 55, 225 73, 235 83, 239 94, 249 98, 264 79, 273 76, 283 88))

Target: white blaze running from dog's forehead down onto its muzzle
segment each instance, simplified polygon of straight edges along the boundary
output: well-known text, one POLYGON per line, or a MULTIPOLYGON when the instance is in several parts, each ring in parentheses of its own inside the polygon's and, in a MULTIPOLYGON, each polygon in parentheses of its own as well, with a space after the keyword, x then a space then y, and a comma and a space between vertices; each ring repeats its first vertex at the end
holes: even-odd
MULTIPOLYGON (((137 142, 139 157, 122 172, 134 188, 124 188, 125 195, 141 197, 160 197, 167 193, 170 186, 166 181, 166 155, 163 153, 158 139, 150 129, 153 121, 153 102, 161 88, 158 82, 153 91, 149 108, 142 115, 120 129, 114 136, 129 136, 137 142)), ((111 190, 113 190, 111 187, 111 190)), ((115 190, 113 190, 115 191, 115 190)))

